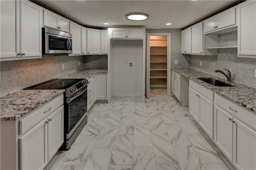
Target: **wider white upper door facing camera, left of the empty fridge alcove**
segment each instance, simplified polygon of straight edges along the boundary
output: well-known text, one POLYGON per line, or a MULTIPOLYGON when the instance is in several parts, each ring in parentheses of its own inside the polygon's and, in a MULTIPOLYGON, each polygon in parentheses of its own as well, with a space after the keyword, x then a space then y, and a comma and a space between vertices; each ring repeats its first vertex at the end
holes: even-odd
POLYGON ((100 30, 87 29, 87 54, 100 54, 100 30))

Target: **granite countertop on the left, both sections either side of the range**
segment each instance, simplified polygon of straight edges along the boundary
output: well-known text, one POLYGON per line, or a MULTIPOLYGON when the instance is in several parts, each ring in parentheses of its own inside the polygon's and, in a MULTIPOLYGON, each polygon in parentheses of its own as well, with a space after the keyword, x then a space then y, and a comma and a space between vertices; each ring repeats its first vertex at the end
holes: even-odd
MULTIPOLYGON (((58 78, 91 78, 96 74, 107 74, 107 69, 80 70, 58 78)), ((18 120, 39 106, 54 99, 65 90, 19 90, 0 98, 0 120, 18 120)))

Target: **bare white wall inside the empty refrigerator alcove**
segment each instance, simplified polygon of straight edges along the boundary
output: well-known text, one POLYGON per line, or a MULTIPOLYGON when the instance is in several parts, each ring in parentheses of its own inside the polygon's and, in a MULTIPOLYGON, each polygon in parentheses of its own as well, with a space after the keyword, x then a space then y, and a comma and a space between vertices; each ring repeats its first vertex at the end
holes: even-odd
POLYGON ((143 41, 111 40, 110 45, 112 96, 141 96, 143 41))

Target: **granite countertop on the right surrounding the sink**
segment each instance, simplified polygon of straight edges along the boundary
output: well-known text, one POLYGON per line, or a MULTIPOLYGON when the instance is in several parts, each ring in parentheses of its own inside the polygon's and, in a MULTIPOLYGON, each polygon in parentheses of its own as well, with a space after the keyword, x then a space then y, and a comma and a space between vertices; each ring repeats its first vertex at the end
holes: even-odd
POLYGON ((211 74, 207 74, 204 72, 200 72, 198 70, 194 70, 191 68, 173 68, 175 72, 178 72, 180 75, 183 75, 190 80, 216 92, 220 96, 223 96, 227 98, 228 100, 231 100, 240 106, 243 106, 247 108, 248 110, 252 111, 254 114, 256 114, 256 89, 251 88, 248 86, 245 86, 243 84, 235 83, 235 82, 227 82, 226 80, 219 78, 217 76, 213 76, 211 74), (219 87, 219 86, 213 86, 211 84, 208 84, 206 82, 203 82, 202 80, 199 80, 198 78, 204 77, 204 78, 216 78, 217 80, 227 82, 229 84, 234 85, 234 87, 219 87))

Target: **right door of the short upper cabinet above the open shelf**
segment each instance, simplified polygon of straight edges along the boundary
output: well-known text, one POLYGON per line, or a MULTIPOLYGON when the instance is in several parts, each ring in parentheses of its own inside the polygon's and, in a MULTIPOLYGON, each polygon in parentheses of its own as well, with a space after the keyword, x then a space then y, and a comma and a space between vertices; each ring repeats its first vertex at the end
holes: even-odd
POLYGON ((236 9, 232 8, 216 15, 216 28, 224 28, 236 24, 236 9))

